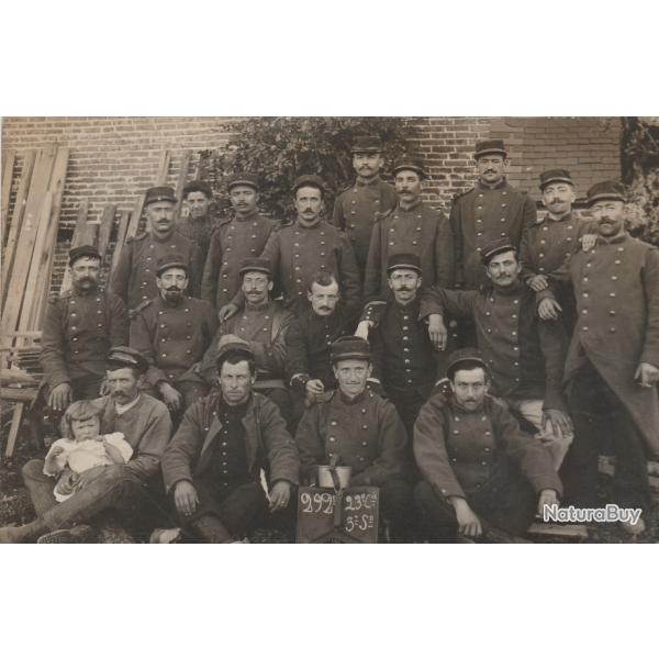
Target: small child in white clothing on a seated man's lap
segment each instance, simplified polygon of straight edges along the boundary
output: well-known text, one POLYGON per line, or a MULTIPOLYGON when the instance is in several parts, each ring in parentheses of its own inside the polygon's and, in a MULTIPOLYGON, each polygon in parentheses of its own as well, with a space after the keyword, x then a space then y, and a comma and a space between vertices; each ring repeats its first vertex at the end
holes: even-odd
POLYGON ((58 478, 53 493, 58 502, 74 493, 71 473, 79 474, 93 467, 125 465, 133 448, 123 433, 100 435, 102 410, 93 401, 71 403, 62 420, 65 435, 51 446, 44 462, 44 473, 58 478), (68 467, 68 470, 67 470, 68 467))

